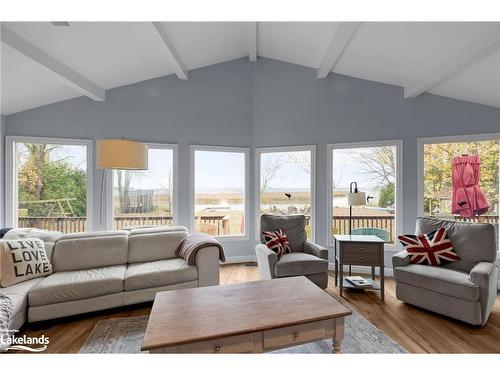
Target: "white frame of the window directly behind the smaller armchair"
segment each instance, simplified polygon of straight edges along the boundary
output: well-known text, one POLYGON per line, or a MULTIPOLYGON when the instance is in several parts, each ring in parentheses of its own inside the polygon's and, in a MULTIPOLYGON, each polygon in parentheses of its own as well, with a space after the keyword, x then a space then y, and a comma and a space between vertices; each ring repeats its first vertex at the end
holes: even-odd
POLYGON ((309 151, 311 153, 311 239, 316 239, 316 145, 259 147, 255 149, 255 239, 260 240, 260 162, 261 155, 278 152, 309 151))

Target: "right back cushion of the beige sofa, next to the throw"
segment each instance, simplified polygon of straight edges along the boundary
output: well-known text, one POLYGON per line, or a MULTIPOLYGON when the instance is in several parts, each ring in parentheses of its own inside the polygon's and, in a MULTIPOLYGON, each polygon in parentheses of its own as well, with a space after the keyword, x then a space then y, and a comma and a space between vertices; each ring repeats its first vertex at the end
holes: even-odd
POLYGON ((177 248, 187 235, 187 229, 178 226, 133 229, 129 234, 128 263, 175 258, 177 248))

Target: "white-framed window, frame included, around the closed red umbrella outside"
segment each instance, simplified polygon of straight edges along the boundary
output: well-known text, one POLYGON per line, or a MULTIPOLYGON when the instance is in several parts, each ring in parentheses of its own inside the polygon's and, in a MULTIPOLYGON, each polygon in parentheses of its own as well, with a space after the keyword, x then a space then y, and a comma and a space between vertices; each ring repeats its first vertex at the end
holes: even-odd
MULTIPOLYGON (((420 211, 425 216, 452 220, 498 223, 500 135, 460 136, 420 139, 420 211), (477 186, 489 208, 481 215, 467 217, 453 210, 453 159, 479 156, 477 186), (465 217, 462 217, 465 216, 465 217)), ((455 170, 455 173, 457 171, 455 170)), ((467 177, 464 177, 467 179, 467 177)), ((469 180, 467 180, 469 181, 469 180)), ((469 181, 476 182, 476 181, 469 181)), ((469 182, 466 183, 469 184, 469 182)), ((475 199, 470 196, 471 199, 475 199)), ((457 201, 458 202, 458 201, 457 201)), ((484 205, 484 203, 481 203, 484 205)))

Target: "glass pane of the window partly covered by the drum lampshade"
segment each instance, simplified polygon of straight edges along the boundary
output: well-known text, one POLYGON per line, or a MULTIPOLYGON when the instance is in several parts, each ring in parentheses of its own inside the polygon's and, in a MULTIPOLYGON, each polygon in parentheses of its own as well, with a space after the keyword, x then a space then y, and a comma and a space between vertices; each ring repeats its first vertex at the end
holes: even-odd
POLYGON ((172 224, 173 155, 150 147, 147 171, 113 171, 114 229, 172 224))

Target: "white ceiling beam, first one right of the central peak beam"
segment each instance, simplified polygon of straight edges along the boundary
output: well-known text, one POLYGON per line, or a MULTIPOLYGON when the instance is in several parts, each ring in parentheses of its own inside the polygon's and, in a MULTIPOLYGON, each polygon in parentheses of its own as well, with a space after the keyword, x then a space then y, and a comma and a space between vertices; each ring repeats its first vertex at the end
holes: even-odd
POLYGON ((342 22, 328 46, 321 64, 318 67, 316 77, 326 78, 339 61, 342 52, 351 41, 361 22, 342 22))

